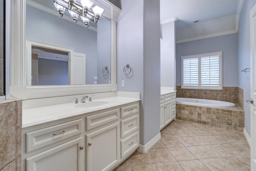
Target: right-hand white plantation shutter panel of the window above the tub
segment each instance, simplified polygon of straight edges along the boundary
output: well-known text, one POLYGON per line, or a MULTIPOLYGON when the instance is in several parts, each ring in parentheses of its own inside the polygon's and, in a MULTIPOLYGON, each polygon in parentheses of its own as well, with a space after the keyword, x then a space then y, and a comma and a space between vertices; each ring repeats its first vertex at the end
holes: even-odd
POLYGON ((219 66, 219 56, 208 56, 201 58, 201 86, 219 86, 219 66))

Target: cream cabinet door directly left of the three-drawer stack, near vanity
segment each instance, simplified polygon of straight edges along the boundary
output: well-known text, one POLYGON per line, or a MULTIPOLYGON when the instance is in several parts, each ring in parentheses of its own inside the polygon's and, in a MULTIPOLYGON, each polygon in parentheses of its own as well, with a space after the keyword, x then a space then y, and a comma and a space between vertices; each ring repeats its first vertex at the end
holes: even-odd
POLYGON ((86 135, 88 171, 109 170, 118 163, 120 158, 119 125, 117 122, 86 135))

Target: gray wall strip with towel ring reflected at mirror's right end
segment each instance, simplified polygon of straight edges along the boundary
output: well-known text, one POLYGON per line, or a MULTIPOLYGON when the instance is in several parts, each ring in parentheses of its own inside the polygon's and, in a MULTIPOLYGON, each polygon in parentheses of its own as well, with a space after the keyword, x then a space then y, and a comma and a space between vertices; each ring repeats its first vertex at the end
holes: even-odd
MULTIPOLYGON (((98 84, 109 84, 111 76, 111 22, 102 18, 97 23, 97 44, 98 44, 98 84), (108 74, 102 75, 102 69, 108 67, 108 74)), ((106 71, 104 71, 104 74, 106 71)))

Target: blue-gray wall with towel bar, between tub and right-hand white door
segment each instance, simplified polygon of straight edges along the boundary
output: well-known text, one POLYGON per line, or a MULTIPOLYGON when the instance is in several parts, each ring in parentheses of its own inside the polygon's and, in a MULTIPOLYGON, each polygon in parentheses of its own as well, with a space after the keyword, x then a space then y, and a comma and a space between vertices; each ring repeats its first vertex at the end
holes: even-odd
POLYGON ((250 99, 250 72, 241 72, 250 68, 250 10, 256 0, 245 0, 239 20, 238 31, 238 86, 244 89, 244 127, 250 135, 250 104, 245 99, 250 99))

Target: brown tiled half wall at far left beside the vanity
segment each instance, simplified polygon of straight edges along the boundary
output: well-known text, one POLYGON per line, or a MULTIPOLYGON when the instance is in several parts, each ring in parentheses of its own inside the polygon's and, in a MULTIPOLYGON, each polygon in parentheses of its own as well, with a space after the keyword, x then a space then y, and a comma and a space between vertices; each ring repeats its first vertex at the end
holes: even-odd
POLYGON ((0 171, 21 170, 22 101, 0 101, 0 171))

